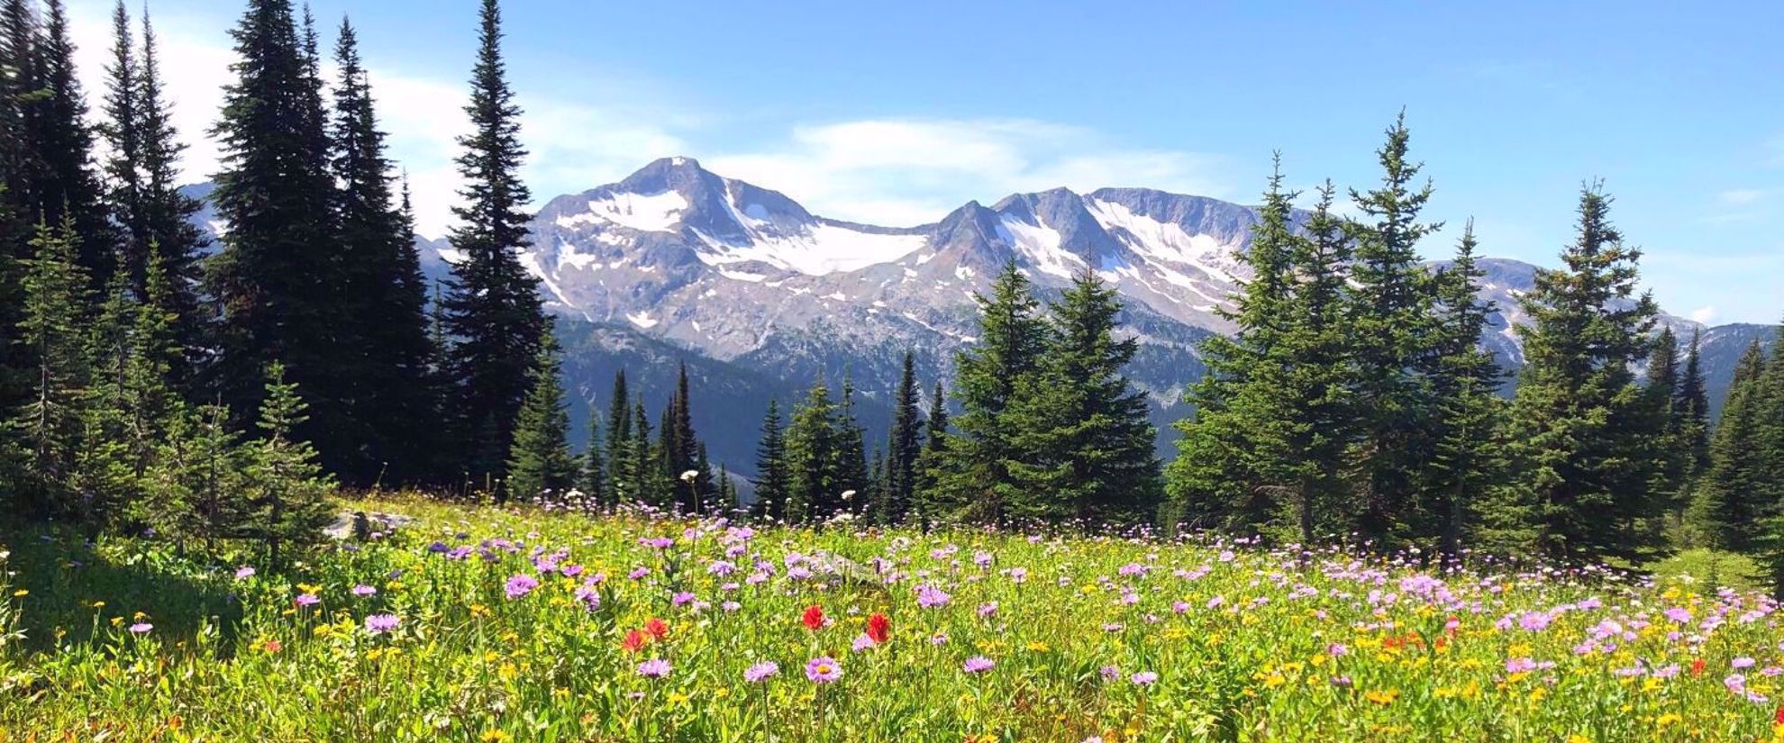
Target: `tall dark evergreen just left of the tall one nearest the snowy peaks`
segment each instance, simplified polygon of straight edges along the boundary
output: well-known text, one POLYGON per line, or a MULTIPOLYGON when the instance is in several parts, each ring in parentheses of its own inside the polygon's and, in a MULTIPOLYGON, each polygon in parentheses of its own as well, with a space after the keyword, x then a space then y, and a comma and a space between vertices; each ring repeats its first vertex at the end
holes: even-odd
MULTIPOLYGON (((409 214, 394 205, 391 162, 384 157, 371 87, 359 59, 359 39, 341 21, 335 43, 339 80, 334 87, 332 173, 335 219, 344 264, 344 299, 355 321, 351 412, 366 431, 355 483, 387 476, 396 483, 425 479, 441 447, 435 437, 439 396, 434 388, 426 285, 409 214)), ((380 478, 382 479, 382 478, 380 478)))

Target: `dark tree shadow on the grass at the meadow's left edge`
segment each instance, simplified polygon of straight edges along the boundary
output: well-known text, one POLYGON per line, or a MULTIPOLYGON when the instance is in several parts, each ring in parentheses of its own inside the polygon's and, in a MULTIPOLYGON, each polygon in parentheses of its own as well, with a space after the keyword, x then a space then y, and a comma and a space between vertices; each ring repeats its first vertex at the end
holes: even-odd
POLYGON ((234 647, 241 602, 227 576, 180 559, 164 545, 116 538, 96 545, 71 531, 0 526, 0 551, 12 552, 7 592, 27 592, 5 599, 21 609, 29 650, 55 647, 59 633, 64 643, 125 633, 137 613, 166 645, 193 647, 202 622, 212 618, 218 647, 234 647))

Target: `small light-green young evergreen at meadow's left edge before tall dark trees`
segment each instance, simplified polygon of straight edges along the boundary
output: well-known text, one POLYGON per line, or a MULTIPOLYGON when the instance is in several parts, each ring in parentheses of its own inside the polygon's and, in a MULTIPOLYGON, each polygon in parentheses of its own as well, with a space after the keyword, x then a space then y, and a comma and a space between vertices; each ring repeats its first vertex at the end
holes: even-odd
POLYGON ((328 502, 334 481, 316 461, 316 449, 294 438, 305 417, 296 387, 285 381, 284 365, 273 362, 266 369, 266 396, 255 424, 260 438, 246 451, 244 536, 266 545, 275 568, 289 551, 321 540, 321 529, 334 520, 328 502))

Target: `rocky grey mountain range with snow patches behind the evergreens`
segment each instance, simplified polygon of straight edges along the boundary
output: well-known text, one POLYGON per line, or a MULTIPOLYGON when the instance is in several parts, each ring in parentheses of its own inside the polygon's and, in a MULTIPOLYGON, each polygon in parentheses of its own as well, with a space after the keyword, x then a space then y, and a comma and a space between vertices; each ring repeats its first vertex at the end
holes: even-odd
MULTIPOLYGON (((837 388, 847 374, 878 438, 903 353, 915 351, 924 388, 946 378, 954 351, 974 340, 974 292, 1008 260, 1044 299, 1092 267, 1126 301, 1122 324, 1140 340, 1129 376, 1152 401, 1165 454, 1165 424, 1185 413, 1177 401, 1204 371, 1197 344, 1233 330, 1218 308, 1249 278, 1235 255, 1256 223, 1254 208, 1204 196, 1053 189, 990 207, 969 201, 928 225, 876 226, 815 216, 781 192, 669 157, 548 201, 521 260, 564 319, 578 431, 591 404, 605 410, 617 367, 655 408, 676 362, 689 362, 696 428, 714 460, 739 472, 753 470, 769 397, 790 403, 812 380, 837 388)), ((460 258, 446 241, 417 237, 417 248, 434 278, 460 258)), ((1497 306, 1483 346, 1515 369, 1524 355, 1513 328, 1525 321, 1516 299, 1538 267, 1506 258, 1481 267, 1481 296, 1497 306)), ((1663 323, 1682 340, 1702 328, 1672 315, 1663 323)), ((1718 404, 1734 358, 1757 335, 1764 326, 1706 330, 1718 404)))

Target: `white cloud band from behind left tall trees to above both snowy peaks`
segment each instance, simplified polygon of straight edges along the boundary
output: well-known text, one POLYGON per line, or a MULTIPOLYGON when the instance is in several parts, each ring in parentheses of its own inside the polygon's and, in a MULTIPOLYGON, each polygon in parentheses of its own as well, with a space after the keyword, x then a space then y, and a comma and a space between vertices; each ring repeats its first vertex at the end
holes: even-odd
MULTIPOLYGON (((98 114, 111 48, 111 2, 70 7, 77 64, 98 114)), ((186 178, 218 171, 209 137, 235 61, 232 16, 198 11, 155 12, 161 59, 175 125, 189 144, 186 178)), ((328 34, 332 36, 332 34, 328 34)), ((371 39, 368 50, 373 50, 371 39)), ((330 43, 330 39, 325 39, 330 43)), ((469 59, 466 61, 469 66, 469 59)), ((462 110, 469 68, 416 75, 380 66, 368 52, 389 155, 407 169, 417 228, 435 237, 453 223, 460 178, 451 159, 469 128, 462 110)), ((523 178, 535 201, 623 178, 657 157, 701 155, 714 171, 783 191, 817 214, 878 225, 940 219, 967 200, 995 201, 1012 192, 1070 187, 1145 185, 1227 196, 1215 157, 1111 143, 1097 132, 1033 119, 858 119, 794 127, 764 148, 698 148, 680 132, 721 137, 689 107, 662 103, 662 86, 626 86, 623 77, 589 75, 571 89, 562 80, 517 77, 528 148, 523 178), (537 86, 535 86, 537 84, 537 86), (598 103, 589 103, 598 102, 598 103)), ((730 139, 730 137, 726 137, 730 139)))

